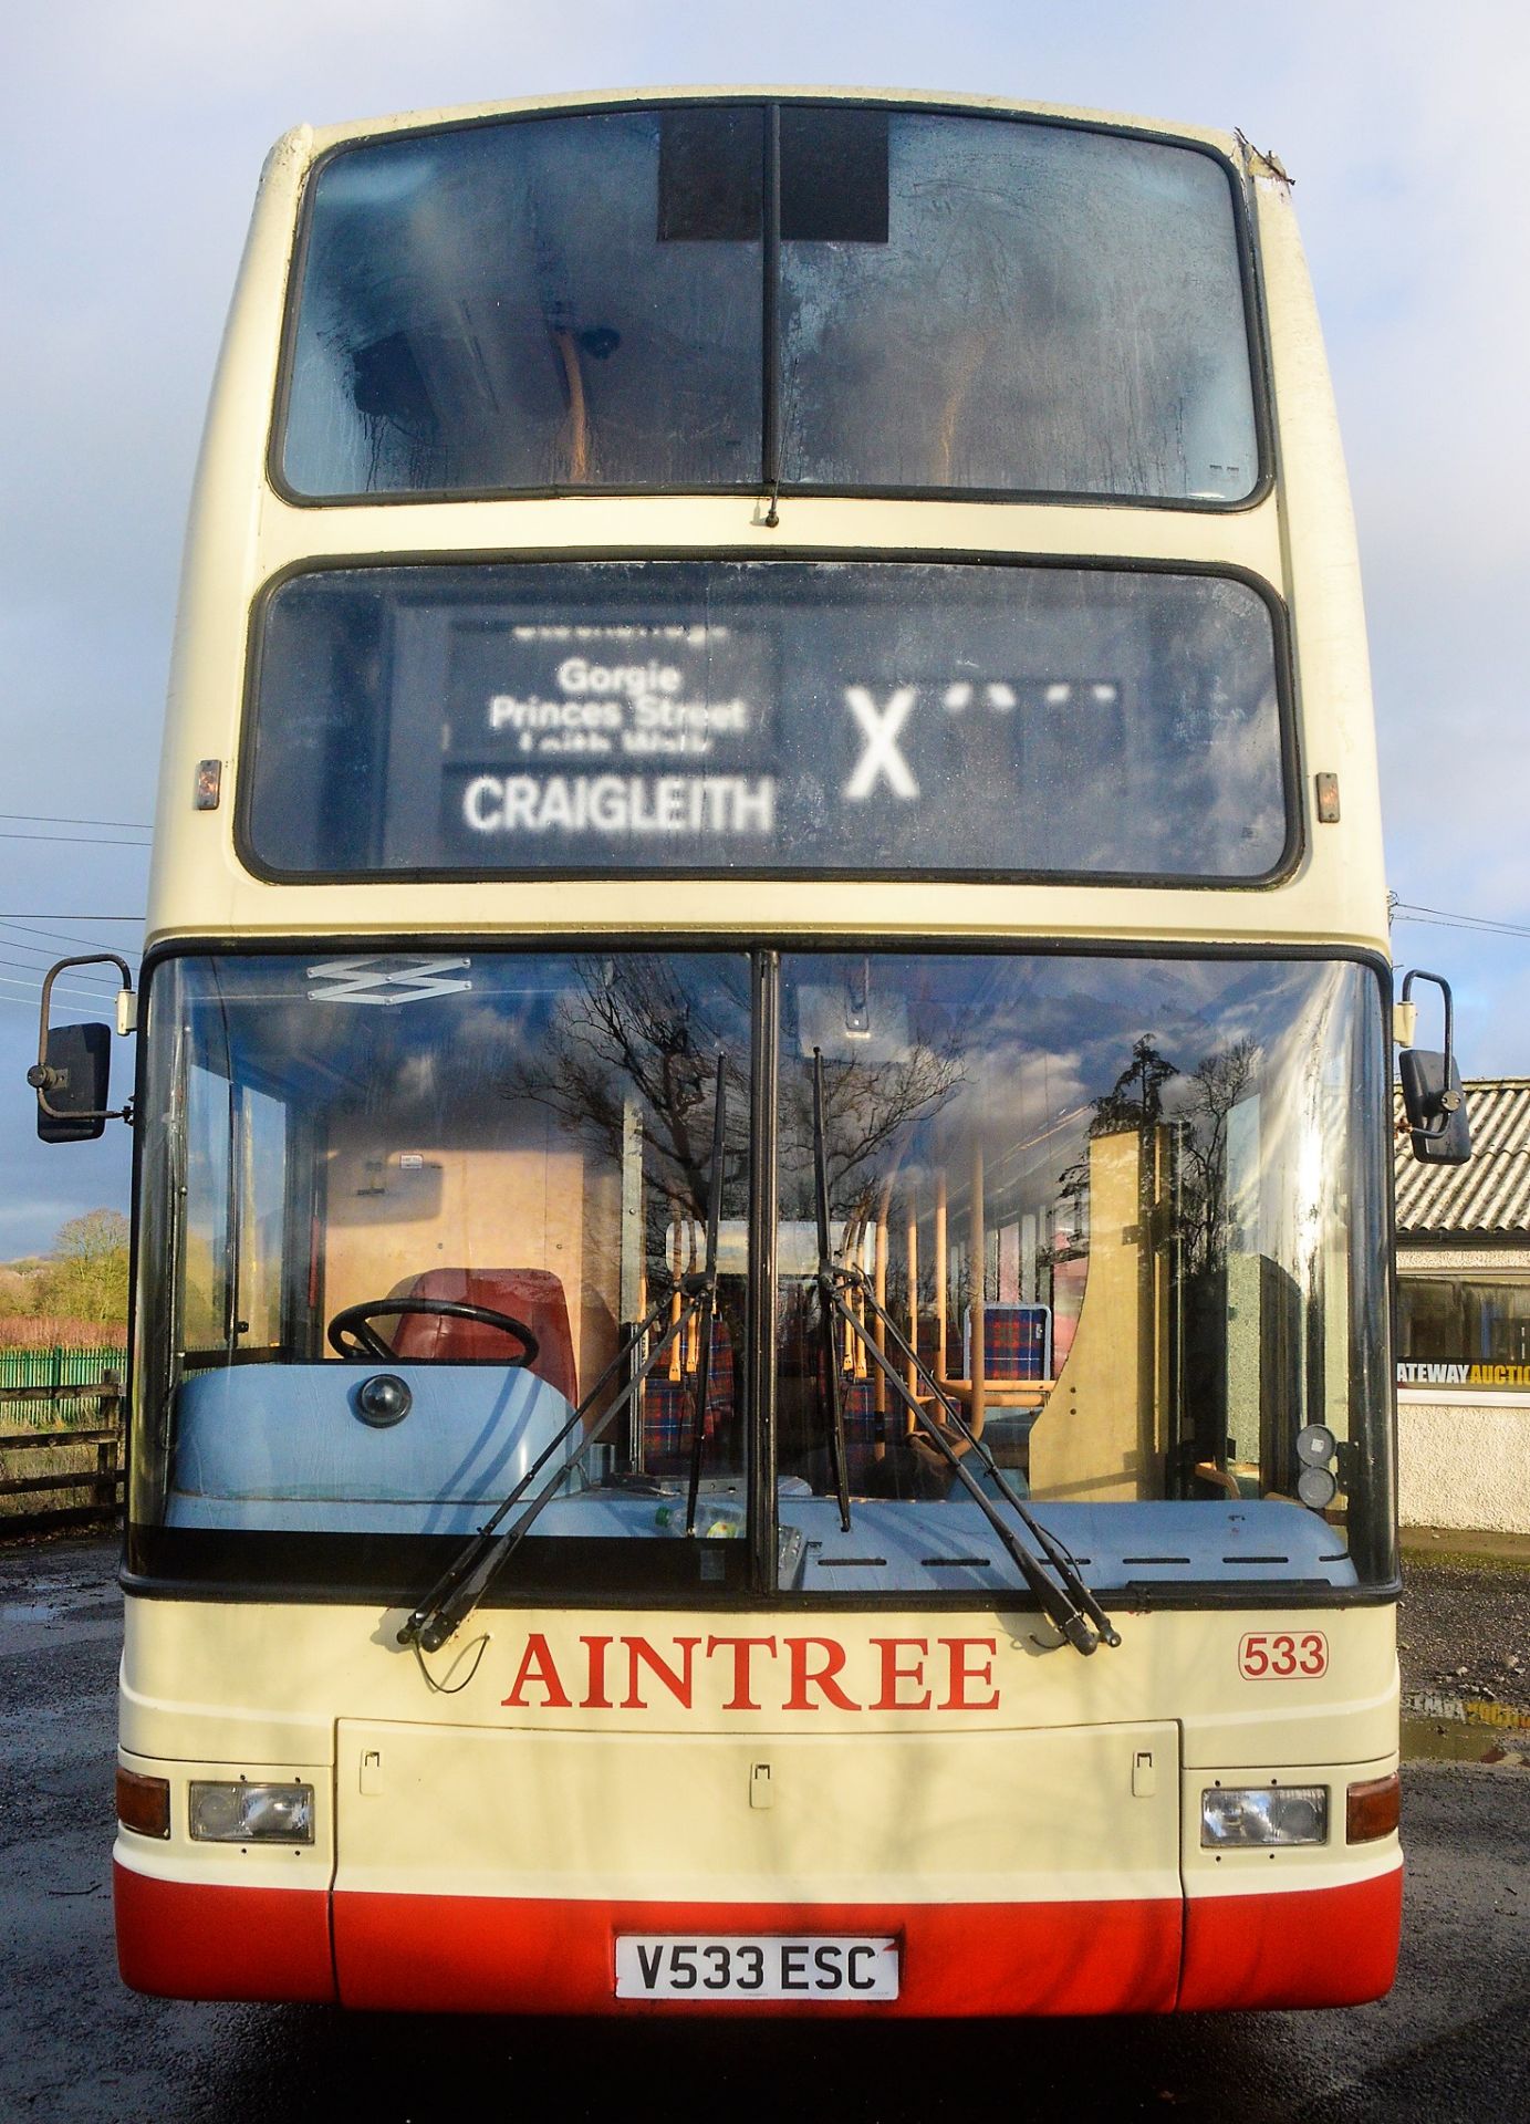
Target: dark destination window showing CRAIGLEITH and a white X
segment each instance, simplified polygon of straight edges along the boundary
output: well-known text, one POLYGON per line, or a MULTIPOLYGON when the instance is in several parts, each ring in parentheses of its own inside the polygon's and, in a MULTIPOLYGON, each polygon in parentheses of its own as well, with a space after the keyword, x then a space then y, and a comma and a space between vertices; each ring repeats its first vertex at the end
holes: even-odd
POLYGON ((240 835, 274 877, 1258 879, 1273 618, 1148 569, 325 569, 268 599, 240 835))

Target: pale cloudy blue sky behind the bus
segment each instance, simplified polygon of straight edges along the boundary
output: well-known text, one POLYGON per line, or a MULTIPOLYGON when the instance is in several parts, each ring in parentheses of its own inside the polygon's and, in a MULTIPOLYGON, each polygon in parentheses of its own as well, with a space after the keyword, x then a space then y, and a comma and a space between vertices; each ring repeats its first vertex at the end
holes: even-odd
MULTIPOLYGON (((1390 884, 1405 909, 1466 918, 1400 915, 1394 954, 1451 977, 1466 1075, 1530 1075, 1528 59, 1526 11, 1496 0, 51 0, 17 15, 0 83, 0 1260, 128 1200, 121 1124, 94 1145, 34 1141, 34 996, 55 939, 138 941, 104 918, 144 905, 202 412, 261 159, 304 119, 876 85, 1241 127, 1273 149, 1296 181, 1345 431, 1390 884)), ((128 1060, 119 1043, 119 1094, 128 1060)))

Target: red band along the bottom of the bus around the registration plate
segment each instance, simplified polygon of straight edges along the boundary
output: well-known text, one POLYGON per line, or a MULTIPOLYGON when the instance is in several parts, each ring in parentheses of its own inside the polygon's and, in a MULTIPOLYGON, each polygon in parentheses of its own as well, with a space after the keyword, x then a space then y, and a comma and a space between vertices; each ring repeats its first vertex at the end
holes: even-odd
POLYGON ((117 1867, 117 1952, 172 1999, 476 2014, 716 2014, 616 2001, 618 1933, 892 1933, 888 2003, 742 2014, 1164 2014, 1358 2005, 1392 1982, 1400 1869, 1339 1888, 1133 1903, 612 1903, 196 1886, 117 1867), (334 1922, 334 1960, 332 1960, 334 1922), (338 1984, 336 1984, 338 1971, 338 1984))

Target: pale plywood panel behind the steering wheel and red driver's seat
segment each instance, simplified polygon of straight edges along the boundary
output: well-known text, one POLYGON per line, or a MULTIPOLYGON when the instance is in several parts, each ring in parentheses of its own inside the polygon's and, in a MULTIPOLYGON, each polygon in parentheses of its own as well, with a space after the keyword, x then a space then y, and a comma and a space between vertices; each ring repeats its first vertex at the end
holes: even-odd
POLYGON ((434 1268, 542 1268, 563 1283, 580 1381, 595 1378, 616 1347, 618 1170, 586 1158, 533 1107, 497 1111, 493 1143, 431 1121, 389 1143, 378 1143, 370 1115, 336 1121, 327 1313, 385 1298, 434 1268))

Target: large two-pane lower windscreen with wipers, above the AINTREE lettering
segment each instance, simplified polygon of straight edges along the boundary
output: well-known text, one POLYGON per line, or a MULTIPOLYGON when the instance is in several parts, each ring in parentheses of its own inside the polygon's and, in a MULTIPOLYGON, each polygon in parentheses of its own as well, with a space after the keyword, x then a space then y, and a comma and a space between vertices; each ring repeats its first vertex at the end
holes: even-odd
POLYGON ((769 1495, 818 1599, 1024 1595, 1024 1512, 1094 1589, 1392 1574, 1375 969, 410 943, 151 971, 166 1563, 412 1608, 512 1500, 506 1589, 714 1601, 769 1495))

